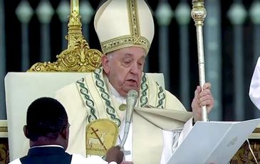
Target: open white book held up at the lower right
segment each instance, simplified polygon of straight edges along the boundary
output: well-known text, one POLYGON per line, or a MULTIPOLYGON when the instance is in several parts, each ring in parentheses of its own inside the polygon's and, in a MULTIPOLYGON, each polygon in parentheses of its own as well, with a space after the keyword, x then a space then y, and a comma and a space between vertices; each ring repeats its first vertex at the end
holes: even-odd
POLYGON ((197 121, 167 164, 229 163, 259 124, 260 119, 197 121))

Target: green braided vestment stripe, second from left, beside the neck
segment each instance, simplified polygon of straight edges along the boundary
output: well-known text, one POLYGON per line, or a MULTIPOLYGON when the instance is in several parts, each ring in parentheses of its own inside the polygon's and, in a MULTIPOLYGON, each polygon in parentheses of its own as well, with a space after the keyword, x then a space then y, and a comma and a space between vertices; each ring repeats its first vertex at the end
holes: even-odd
POLYGON ((110 115, 110 119, 115 122, 118 126, 120 126, 121 121, 118 119, 117 115, 115 114, 115 109, 111 105, 111 99, 107 92, 105 92, 105 83, 101 80, 100 73, 102 72, 101 68, 95 70, 94 77, 95 77, 95 85, 99 88, 100 97, 102 97, 103 101, 105 101, 106 111, 110 115))

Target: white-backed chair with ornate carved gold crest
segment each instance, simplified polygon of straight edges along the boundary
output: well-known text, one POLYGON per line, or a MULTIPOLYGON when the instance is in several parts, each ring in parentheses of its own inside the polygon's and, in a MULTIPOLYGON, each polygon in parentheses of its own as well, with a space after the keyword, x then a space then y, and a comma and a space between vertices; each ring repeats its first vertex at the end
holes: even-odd
MULTIPOLYGON (((53 97, 56 90, 76 82, 85 72, 100 67, 103 55, 90 49, 81 31, 78 11, 71 11, 68 22, 68 48, 57 55, 56 62, 38 62, 27 72, 9 72, 5 77, 6 114, 10 160, 26 155, 29 147, 24 136, 26 111, 38 97, 53 97)), ((148 74, 164 87, 162 74, 148 74)), ((0 126, 1 128, 1 126, 0 126)))

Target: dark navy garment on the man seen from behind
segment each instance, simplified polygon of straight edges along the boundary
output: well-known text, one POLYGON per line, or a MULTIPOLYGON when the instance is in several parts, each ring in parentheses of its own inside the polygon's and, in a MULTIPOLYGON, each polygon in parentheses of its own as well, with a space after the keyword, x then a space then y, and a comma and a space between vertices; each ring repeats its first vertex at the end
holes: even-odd
POLYGON ((23 164, 70 164, 72 155, 61 147, 36 147, 30 148, 28 155, 20 158, 23 164))

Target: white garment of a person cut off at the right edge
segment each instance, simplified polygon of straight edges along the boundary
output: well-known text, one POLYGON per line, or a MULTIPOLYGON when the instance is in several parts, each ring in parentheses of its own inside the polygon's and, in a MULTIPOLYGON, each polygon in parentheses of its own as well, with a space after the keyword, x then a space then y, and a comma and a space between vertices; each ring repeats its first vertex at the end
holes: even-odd
POLYGON ((254 105, 260 109, 260 58, 258 58, 251 78, 249 97, 254 105))

